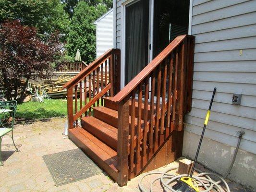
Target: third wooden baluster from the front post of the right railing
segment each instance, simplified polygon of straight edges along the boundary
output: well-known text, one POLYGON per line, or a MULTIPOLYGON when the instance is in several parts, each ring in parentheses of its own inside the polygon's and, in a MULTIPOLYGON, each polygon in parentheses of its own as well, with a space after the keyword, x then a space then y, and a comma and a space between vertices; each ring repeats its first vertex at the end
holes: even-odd
POLYGON ((148 92, 149 92, 149 83, 148 77, 145 80, 145 100, 144 100, 144 132, 143 132, 143 156, 146 156, 146 139, 147 139, 147 112, 148 112, 148 92))

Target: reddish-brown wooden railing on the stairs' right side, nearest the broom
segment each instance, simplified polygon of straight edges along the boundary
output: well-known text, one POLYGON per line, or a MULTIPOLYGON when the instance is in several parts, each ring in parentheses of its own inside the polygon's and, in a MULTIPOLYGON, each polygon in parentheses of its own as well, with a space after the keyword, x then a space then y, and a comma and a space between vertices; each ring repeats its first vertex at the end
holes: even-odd
POLYGON ((139 174, 173 130, 183 130, 183 114, 190 110, 192 100, 194 38, 176 37, 113 97, 119 106, 120 186, 132 174, 139 174))

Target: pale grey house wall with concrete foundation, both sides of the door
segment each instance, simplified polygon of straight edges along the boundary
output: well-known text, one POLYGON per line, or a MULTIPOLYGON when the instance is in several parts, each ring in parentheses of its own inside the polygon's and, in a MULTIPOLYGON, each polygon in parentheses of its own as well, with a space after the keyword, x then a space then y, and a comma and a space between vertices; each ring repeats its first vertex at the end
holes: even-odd
MULTIPOLYGON (((116 48, 121 48, 121 2, 116 8, 116 48)), ((191 1, 195 36, 192 110, 185 116, 183 156, 194 158, 214 87, 210 120, 198 161, 225 174, 244 131, 228 178, 256 189, 256 0, 191 1), (241 105, 232 104, 242 94, 241 105)), ((122 50, 121 50, 122 51, 122 50)))

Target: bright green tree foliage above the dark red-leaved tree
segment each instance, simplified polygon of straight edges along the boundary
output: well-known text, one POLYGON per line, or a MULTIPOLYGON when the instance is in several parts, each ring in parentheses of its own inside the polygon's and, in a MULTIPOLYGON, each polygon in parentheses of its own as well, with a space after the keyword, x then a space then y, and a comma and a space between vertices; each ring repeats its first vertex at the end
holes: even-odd
POLYGON ((0 23, 20 20, 34 26, 41 36, 50 36, 56 30, 65 35, 69 30, 69 16, 60 0, 0 0, 0 23))

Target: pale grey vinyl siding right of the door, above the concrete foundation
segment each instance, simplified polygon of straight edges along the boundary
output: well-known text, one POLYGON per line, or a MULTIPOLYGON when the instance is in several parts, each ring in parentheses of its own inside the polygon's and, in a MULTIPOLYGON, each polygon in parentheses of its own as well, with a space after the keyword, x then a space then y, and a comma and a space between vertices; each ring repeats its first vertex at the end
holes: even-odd
POLYGON ((195 64, 192 110, 185 131, 200 134, 211 98, 217 93, 206 137, 256 154, 256 1, 193 0, 195 64), (242 55, 240 50, 242 49, 242 55), (232 94, 242 94, 241 105, 232 94))

